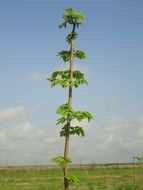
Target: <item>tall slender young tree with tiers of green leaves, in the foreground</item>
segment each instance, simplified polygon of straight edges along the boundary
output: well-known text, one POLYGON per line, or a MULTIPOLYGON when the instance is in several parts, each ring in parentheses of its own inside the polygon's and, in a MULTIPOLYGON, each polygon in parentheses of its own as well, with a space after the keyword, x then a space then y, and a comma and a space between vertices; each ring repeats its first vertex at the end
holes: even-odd
POLYGON ((92 115, 87 111, 75 111, 72 107, 72 93, 73 88, 78 88, 80 85, 87 84, 84 74, 79 70, 74 70, 74 58, 85 59, 86 54, 81 50, 75 49, 75 40, 78 37, 76 30, 83 24, 84 15, 75 12, 68 8, 63 14, 64 22, 59 25, 59 28, 67 28, 71 26, 70 33, 66 36, 66 42, 69 44, 69 50, 62 50, 58 52, 58 57, 63 62, 69 63, 68 70, 54 71, 48 80, 51 82, 51 87, 60 85, 62 88, 68 88, 68 101, 61 105, 56 113, 61 115, 57 120, 57 124, 63 125, 60 130, 60 136, 65 138, 64 155, 57 156, 52 160, 63 167, 64 172, 64 190, 69 189, 69 183, 80 183, 80 180, 68 172, 68 165, 72 163, 69 159, 69 142, 71 135, 78 135, 84 137, 84 129, 81 126, 73 126, 72 121, 81 122, 84 119, 90 121, 93 119, 92 115))

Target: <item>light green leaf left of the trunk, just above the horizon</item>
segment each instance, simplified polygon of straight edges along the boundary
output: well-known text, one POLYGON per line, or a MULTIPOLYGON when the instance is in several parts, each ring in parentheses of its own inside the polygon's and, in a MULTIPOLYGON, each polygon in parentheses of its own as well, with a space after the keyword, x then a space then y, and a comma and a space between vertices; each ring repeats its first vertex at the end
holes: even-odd
POLYGON ((71 164, 72 161, 68 158, 64 158, 63 156, 56 156, 52 159, 52 162, 58 164, 59 166, 65 166, 71 164))

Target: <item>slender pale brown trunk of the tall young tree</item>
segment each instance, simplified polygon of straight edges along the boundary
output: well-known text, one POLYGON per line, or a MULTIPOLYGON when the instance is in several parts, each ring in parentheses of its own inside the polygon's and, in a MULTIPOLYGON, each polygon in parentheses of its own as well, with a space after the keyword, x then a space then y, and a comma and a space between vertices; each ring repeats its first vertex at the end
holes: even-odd
MULTIPOLYGON (((70 68, 69 68, 69 79, 70 79, 70 83, 72 84, 73 81, 73 40, 71 41, 70 44, 70 68)), ((72 105, 72 85, 69 86, 69 92, 68 92, 68 105, 71 106, 72 105)), ((68 132, 70 130, 70 125, 71 125, 71 121, 69 121, 67 123, 67 127, 68 127, 68 132)), ((66 135, 65 137, 65 147, 64 147, 64 159, 68 158, 68 153, 69 153, 69 133, 66 135)), ((63 172, 64 172, 64 190, 69 190, 69 182, 67 179, 68 176, 68 166, 65 165, 63 168, 63 172)))

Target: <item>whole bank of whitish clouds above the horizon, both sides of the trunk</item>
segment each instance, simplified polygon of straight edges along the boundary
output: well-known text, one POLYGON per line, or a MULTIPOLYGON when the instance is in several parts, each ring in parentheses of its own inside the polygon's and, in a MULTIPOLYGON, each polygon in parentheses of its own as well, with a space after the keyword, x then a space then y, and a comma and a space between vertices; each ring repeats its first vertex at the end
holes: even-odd
MULTIPOLYGON (((2 111, 1 121, 12 121, 24 114, 24 108, 18 108, 20 107, 2 111), (15 110, 15 114, 12 114, 12 110, 15 110)), ((74 163, 113 162, 117 157, 119 161, 131 161, 133 155, 143 152, 142 121, 141 114, 132 119, 112 116, 98 126, 92 126, 91 123, 88 128, 89 124, 83 122, 82 126, 89 130, 86 130, 85 138, 70 138, 69 155, 74 163)), ((56 126, 46 128, 26 120, 3 123, 0 128, 0 162, 49 164, 53 156, 63 153, 64 138, 59 137, 57 130, 56 126)))

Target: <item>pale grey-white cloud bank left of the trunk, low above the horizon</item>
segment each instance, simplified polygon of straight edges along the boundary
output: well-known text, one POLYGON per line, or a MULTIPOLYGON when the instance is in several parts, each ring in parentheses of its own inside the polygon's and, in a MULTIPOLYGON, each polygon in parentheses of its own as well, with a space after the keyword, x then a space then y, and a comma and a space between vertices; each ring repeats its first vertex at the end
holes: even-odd
POLYGON ((0 128, 1 164, 47 164, 61 151, 61 139, 55 128, 21 121, 16 124, 5 123, 0 128))

